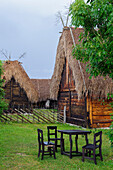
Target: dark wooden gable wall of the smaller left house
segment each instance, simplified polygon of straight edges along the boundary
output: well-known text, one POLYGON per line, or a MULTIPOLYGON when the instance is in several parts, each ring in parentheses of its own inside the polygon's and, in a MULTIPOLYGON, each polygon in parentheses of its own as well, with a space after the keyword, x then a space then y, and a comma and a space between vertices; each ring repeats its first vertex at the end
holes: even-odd
POLYGON ((29 107, 29 100, 26 95, 26 92, 23 88, 20 87, 19 83, 17 83, 12 77, 12 79, 5 85, 5 98, 9 103, 9 107, 29 107))

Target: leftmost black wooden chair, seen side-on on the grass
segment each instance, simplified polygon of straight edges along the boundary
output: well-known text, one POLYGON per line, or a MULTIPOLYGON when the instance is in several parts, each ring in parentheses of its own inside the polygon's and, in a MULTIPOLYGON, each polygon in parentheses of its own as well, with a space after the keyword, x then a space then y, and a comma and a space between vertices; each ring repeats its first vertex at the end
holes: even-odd
POLYGON ((42 160, 44 155, 54 155, 54 159, 56 159, 55 156, 55 144, 52 142, 44 142, 43 141, 43 131, 41 129, 37 129, 38 131, 38 144, 39 144, 39 152, 38 157, 40 156, 40 153, 42 153, 42 160), (45 148, 47 147, 47 149, 45 148))

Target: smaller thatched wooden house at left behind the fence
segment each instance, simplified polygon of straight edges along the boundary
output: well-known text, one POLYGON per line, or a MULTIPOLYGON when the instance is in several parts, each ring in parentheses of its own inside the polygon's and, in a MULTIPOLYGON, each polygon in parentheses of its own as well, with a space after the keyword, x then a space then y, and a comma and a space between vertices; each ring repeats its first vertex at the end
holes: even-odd
POLYGON ((5 98, 12 108, 29 108, 38 101, 38 92, 18 61, 6 61, 3 65, 5 98))

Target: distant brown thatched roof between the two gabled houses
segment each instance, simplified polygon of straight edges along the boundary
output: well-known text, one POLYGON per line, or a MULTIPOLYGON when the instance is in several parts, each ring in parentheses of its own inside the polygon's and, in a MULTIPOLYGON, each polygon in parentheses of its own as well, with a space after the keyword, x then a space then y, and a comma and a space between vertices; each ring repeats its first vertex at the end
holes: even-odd
POLYGON ((31 79, 38 91, 39 101, 50 99, 50 79, 31 79))

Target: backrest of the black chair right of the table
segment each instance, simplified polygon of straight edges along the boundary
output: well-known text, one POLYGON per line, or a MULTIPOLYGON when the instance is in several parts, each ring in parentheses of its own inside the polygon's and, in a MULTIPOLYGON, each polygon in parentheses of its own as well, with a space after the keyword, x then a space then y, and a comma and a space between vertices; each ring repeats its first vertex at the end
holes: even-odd
POLYGON ((102 131, 94 134, 94 145, 102 145, 102 131))

